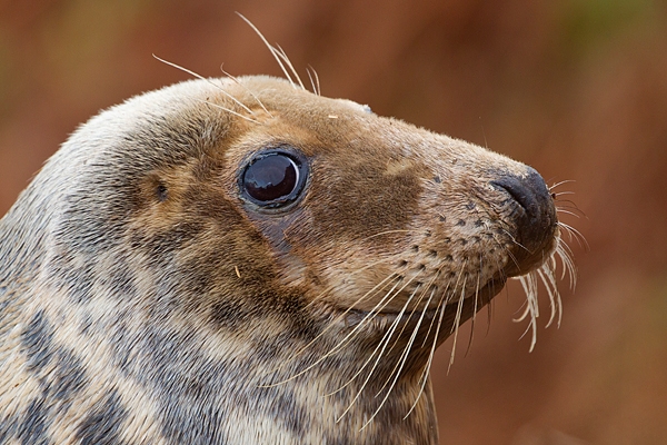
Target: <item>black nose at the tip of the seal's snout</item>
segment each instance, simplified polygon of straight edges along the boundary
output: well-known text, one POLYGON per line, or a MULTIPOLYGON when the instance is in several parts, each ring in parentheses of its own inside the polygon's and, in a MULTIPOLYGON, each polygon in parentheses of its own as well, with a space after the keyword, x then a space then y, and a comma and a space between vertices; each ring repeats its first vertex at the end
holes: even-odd
POLYGON ((525 176, 504 172, 490 181, 496 189, 508 195, 505 201, 510 207, 516 224, 516 241, 512 253, 519 273, 525 273, 544 260, 544 251, 550 249, 557 227, 554 199, 542 177, 531 167, 525 176))

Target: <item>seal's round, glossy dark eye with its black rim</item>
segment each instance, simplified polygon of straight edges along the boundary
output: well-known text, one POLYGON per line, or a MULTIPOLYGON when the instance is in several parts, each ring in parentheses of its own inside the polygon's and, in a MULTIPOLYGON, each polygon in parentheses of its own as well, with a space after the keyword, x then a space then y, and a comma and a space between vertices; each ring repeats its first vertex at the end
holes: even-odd
POLYGON ((295 201, 301 194, 305 162, 282 151, 258 155, 243 170, 240 185, 255 204, 262 207, 281 207, 295 201))

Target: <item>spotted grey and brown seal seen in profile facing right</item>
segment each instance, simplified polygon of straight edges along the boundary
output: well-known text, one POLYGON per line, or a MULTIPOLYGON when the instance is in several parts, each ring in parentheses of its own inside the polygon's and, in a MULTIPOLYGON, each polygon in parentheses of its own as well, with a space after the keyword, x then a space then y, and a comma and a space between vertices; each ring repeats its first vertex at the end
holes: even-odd
POLYGON ((130 99, 0 220, 0 443, 435 444, 437 346, 511 277, 559 314, 554 199, 290 80, 130 99))

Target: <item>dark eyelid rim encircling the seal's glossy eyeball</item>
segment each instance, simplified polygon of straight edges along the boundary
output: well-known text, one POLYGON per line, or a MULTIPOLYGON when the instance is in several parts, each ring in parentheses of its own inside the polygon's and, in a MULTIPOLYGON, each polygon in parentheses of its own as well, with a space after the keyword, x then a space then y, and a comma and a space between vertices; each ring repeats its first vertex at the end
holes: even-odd
POLYGON ((287 144, 277 144, 263 147, 262 149, 255 151, 247 158, 239 167, 237 171, 237 185, 239 189, 239 197, 242 201, 250 205, 250 207, 260 212, 265 214, 281 214, 289 211, 298 202, 303 199, 308 185, 310 184, 310 162, 309 159, 295 147, 287 144), (297 168, 297 182, 295 188, 285 197, 273 199, 270 201, 261 201, 250 196, 246 187, 243 186, 243 178, 248 168, 256 161, 263 159, 269 156, 282 155, 289 158, 295 167, 297 168))

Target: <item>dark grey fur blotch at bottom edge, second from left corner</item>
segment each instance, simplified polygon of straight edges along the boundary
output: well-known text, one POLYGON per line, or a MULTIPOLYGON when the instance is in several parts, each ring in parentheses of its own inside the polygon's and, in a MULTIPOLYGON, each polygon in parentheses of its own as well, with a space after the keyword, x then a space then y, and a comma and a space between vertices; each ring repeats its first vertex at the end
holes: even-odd
POLYGON ((81 421, 76 437, 81 445, 122 445, 121 428, 127 417, 120 397, 110 392, 81 421))

